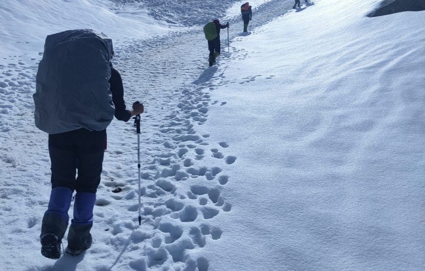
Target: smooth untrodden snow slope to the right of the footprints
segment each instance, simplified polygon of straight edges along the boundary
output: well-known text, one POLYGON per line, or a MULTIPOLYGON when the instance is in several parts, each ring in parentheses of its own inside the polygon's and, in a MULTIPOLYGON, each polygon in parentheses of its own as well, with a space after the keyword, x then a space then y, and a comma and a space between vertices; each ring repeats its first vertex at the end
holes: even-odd
POLYGON ((227 104, 200 131, 237 157, 213 270, 425 267, 425 13, 329 2, 232 42, 205 83, 227 104))

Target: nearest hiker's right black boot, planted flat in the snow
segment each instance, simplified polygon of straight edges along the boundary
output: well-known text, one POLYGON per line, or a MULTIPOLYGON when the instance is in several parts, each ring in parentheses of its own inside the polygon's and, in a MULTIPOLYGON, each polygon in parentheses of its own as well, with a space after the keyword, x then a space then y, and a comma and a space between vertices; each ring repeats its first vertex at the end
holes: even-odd
POLYGON ((70 255, 79 255, 84 250, 90 248, 92 243, 92 237, 90 229, 93 222, 89 223, 71 223, 68 230, 68 247, 65 252, 70 255))

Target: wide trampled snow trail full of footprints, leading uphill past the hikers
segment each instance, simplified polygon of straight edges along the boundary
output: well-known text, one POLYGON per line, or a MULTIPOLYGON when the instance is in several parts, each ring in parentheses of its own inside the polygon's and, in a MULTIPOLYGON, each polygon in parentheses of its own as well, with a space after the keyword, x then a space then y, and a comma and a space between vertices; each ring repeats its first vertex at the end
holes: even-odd
MULTIPOLYGON (((281 16, 290 6, 290 3, 270 1, 254 7, 249 31, 255 32, 256 26, 281 16)), ((248 34, 242 33, 240 15, 220 20, 230 22, 230 42, 244 39, 248 34)), ((226 152, 229 146, 226 142, 209 142, 208 134, 197 134, 196 125, 207 121, 209 106, 226 104, 211 101, 208 91, 213 88, 209 80, 217 77, 217 72, 220 75, 225 72, 220 66, 228 61, 227 29, 221 32, 222 54, 217 59, 218 65, 210 68, 202 25, 182 30, 151 40, 114 40, 113 64, 123 77, 127 105, 140 100, 146 107, 141 125, 142 226, 137 222, 135 127, 131 120, 126 124, 114 120, 107 129, 108 148, 94 210, 92 248, 84 255, 62 257, 54 264, 40 256, 36 265, 25 257, 28 251, 17 251, 15 256, 23 259, 22 267, 28 270, 75 270, 77 265, 82 270, 208 269, 208 256, 202 255, 200 249, 225 234, 225 229, 215 225, 213 218, 232 210, 220 194, 229 181, 225 169, 237 157, 226 152)), ((12 236, 12 239, 3 238, 1 247, 29 242, 33 248, 30 253, 34 254, 40 253, 38 236, 50 191, 47 135, 34 127, 33 120, 32 94, 41 55, 42 52, 39 59, 34 56, 31 62, 21 61, 21 56, 10 56, 9 64, 1 66, 0 75, 0 91, 5 97, 0 101, 0 170, 5 178, 1 184, 0 214, 4 225, 21 225, 12 234, 0 232, 2 236, 12 236), (20 108, 19 112, 11 114, 16 107, 20 108), (5 121, 6 117, 14 121, 5 121), (15 131, 12 136, 10 131, 15 131), (16 210, 13 206, 27 208, 16 210)), ((246 57, 243 51, 231 48, 231 59, 246 57)), ((2 255, 1 260, 4 266, 13 265, 13 259, 7 255, 2 255)))

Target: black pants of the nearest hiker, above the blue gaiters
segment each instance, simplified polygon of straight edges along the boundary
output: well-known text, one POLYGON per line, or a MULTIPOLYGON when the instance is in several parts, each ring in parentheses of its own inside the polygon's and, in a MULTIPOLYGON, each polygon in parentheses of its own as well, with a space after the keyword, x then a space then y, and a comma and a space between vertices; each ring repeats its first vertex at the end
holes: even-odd
POLYGON ((102 173, 106 130, 84 128, 49 135, 52 189, 96 193, 102 173), (78 168, 78 177, 75 175, 78 168))

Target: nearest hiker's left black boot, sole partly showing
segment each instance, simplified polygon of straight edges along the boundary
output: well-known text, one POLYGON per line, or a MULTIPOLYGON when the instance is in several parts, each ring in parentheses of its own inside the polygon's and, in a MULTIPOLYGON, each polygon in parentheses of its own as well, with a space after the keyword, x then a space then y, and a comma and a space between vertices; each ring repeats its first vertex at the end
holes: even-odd
POLYGON ((67 223, 64 218, 55 212, 46 212, 43 216, 42 233, 40 243, 42 244, 42 255, 50 259, 61 257, 61 244, 67 223))

